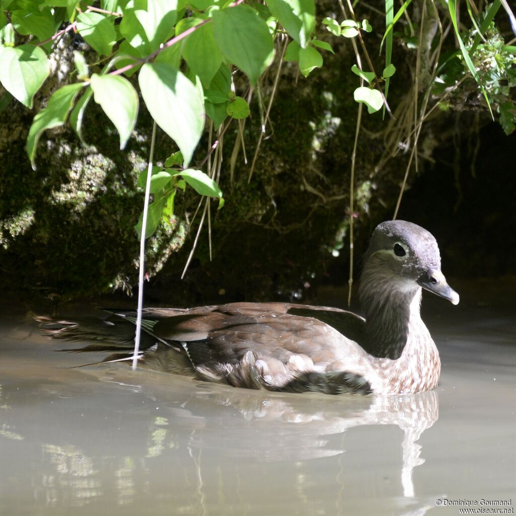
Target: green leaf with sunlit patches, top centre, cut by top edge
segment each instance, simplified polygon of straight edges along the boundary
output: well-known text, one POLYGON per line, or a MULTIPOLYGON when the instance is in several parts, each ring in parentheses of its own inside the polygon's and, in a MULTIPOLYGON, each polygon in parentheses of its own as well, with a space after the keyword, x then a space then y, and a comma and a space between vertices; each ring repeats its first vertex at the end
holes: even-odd
POLYGON ((304 49, 315 25, 314 0, 267 0, 267 5, 289 36, 304 49))

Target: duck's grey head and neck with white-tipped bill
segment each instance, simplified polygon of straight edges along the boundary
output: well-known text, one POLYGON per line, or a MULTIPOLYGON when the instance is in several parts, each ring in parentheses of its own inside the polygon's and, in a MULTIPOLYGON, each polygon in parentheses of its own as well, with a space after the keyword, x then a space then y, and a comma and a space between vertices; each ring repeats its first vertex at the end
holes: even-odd
POLYGON ((422 288, 459 302, 446 283, 436 239, 425 229, 404 220, 382 222, 365 254, 359 297, 365 315, 364 349, 376 357, 398 359, 408 335, 434 346, 421 321, 422 288), (415 325, 415 326, 414 326, 415 325))

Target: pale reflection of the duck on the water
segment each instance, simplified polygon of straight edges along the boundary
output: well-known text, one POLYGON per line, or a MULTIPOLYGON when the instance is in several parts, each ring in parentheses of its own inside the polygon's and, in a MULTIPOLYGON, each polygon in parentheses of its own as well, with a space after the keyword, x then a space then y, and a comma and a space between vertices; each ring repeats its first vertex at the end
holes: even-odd
MULTIPOLYGON (((95 371, 91 370, 91 373, 95 374, 95 371)), ((97 370, 96 374, 101 375, 102 370, 97 370)), ((109 381, 124 382, 132 378, 118 367, 111 369, 110 373, 105 371, 105 375, 109 381)), ((139 376, 142 379, 144 374, 139 376)), ((425 462, 417 441, 439 417, 436 391, 403 396, 293 396, 214 387, 203 382, 193 383, 195 387, 191 389, 190 381, 179 378, 171 389, 160 382, 157 375, 153 375, 152 381, 152 385, 144 382, 142 392, 153 399, 170 399, 169 403, 160 406, 160 416, 170 423, 168 436, 171 441, 165 438, 160 453, 167 454, 173 441, 173 447, 187 447, 193 457, 201 451, 206 457, 222 449, 225 456, 238 461, 306 464, 300 466, 303 471, 313 467, 306 462, 313 459, 323 459, 323 467, 331 470, 336 467, 337 457, 342 456, 342 460, 338 459, 339 467, 350 471, 352 459, 342 455, 351 451, 346 446, 345 432, 356 427, 394 425, 403 431, 403 437, 399 439, 392 433, 384 433, 392 436, 385 440, 384 446, 394 450, 400 446, 402 463, 401 466, 393 465, 398 464, 394 458, 389 466, 379 468, 378 475, 383 470, 393 476, 389 491, 396 492, 401 487, 403 497, 398 498, 397 503, 406 508, 406 514, 425 514, 428 508, 435 506, 440 493, 423 499, 418 497, 413 475, 415 467, 425 462), (215 421, 214 407, 217 407, 215 421), (235 417, 238 415, 240 417, 235 417), (186 432, 189 437, 184 441, 178 441, 174 440, 177 439, 178 428, 195 430, 186 432), (394 472, 391 472, 392 468, 394 472), (397 481, 395 471, 398 471, 397 481)), ((205 485, 214 481, 203 476, 197 461, 195 467, 197 476, 203 478, 205 485)), ((306 488, 310 489, 308 485, 306 488)), ((295 498, 295 493, 288 492, 294 489, 291 482, 286 480, 284 489, 285 496, 295 498)))

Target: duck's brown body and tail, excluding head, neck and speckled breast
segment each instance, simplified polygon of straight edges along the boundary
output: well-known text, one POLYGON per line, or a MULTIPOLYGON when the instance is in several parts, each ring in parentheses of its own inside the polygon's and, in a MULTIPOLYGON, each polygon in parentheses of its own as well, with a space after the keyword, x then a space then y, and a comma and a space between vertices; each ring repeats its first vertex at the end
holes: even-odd
MULTIPOLYGON (((111 351, 132 358, 136 312, 104 320, 46 321, 47 333, 94 344, 68 351, 111 351)), ((43 322, 40 319, 40 322, 43 322)), ((253 389, 368 392, 363 319, 344 310, 291 303, 228 303, 143 312, 139 363, 253 389)))

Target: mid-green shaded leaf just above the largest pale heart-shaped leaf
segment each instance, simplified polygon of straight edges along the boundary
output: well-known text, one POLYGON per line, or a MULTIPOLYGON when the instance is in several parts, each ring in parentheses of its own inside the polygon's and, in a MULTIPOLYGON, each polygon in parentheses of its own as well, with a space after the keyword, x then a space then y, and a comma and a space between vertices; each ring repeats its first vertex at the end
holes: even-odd
MULTIPOLYGON (((184 18, 176 26, 175 32, 179 35, 202 21, 200 18, 184 18)), ((183 40, 183 57, 192 72, 199 76, 203 86, 208 87, 222 63, 222 54, 215 43, 211 23, 199 27, 183 40)))

